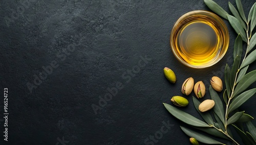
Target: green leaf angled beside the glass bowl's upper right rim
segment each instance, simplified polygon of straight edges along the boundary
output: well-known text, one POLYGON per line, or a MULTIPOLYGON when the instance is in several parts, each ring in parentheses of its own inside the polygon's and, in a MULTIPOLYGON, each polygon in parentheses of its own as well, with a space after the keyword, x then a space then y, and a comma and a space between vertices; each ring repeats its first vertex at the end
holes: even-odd
POLYGON ((245 31, 241 25, 241 23, 239 22, 239 20, 236 17, 233 17, 231 15, 227 15, 228 21, 230 23, 230 25, 233 27, 234 31, 237 32, 237 34, 240 34, 243 41, 247 42, 247 37, 245 34, 245 31))

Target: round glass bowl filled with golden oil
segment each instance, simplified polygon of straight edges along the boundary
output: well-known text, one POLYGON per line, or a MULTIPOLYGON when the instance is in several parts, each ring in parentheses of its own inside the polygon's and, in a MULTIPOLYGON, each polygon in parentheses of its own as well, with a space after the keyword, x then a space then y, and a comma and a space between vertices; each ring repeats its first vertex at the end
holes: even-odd
POLYGON ((208 11, 192 11, 181 16, 170 34, 175 57, 193 68, 216 64, 225 55, 229 34, 223 20, 208 11))

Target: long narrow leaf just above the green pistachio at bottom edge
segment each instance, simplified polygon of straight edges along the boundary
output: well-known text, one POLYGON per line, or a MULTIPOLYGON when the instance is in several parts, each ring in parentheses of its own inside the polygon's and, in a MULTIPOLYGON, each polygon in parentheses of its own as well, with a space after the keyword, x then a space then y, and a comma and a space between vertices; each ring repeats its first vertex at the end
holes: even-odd
POLYGON ((224 144, 224 143, 221 143, 221 142, 219 142, 215 139, 212 139, 208 136, 200 134, 194 130, 190 130, 190 129, 182 127, 182 126, 180 128, 186 135, 188 135, 189 137, 194 137, 200 142, 207 143, 207 144, 224 144))

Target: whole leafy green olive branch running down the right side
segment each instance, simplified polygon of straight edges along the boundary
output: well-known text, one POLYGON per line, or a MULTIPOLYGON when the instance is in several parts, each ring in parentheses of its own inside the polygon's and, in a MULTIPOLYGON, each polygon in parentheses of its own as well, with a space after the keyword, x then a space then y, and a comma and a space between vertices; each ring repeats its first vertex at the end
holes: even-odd
MULTIPOLYGON (((247 72, 249 64, 256 60, 256 50, 254 47, 256 44, 256 33, 253 33, 253 29, 256 25, 256 3, 251 7, 247 18, 245 17, 240 0, 236 0, 237 9, 230 2, 228 3, 232 15, 229 15, 212 0, 204 0, 204 3, 210 10, 227 19, 234 31, 238 34, 234 42, 234 61, 232 67, 230 68, 228 64, 226 64, 224 73, 226 89, 223 93, 223 101, 225 102, 226 108, 224 108, 219 94, 211 86, 209 88, 210 97, 215 101, 215 106, 211 113, 209 111, 200 112, 198 109, 200 101, 193 96, 194 106, 205 122, 176 107, 165 103, 163 104, 170 114, 195 129, 239 144, 232 137, 230 130, 230 126, 232 126, 245 144, 256 144, 256 128, 251 123, 253 117, 244 113, 245 111, 238 111, 238 108, 256 93, 256 88, 248 90, 248 87, 256 81, 256 70, 247 72), (244 58, 242 59, 243 41, 247 46, 244 58), (247 130, 244 128, 245 125, 247 130)), ((182 126, 181 129, 185 134, 196 138, 200 142, 207 144, 224 144, 209 136, 198 133, 196 130, 182 126)))

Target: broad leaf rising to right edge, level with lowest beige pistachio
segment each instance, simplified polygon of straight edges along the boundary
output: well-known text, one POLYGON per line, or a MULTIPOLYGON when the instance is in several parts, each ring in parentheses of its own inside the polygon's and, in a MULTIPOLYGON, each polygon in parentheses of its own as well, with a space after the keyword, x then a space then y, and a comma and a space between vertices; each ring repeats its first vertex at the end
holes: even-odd
POLYGON ((239 96, 237 96, 235 99, 233 99, 232 103, 229 105, 228 113, 233 111, 234 109, 237 109, 242 104, 244 104, 248 99, 251 98, 251 96, 256 93, 256 88, 247 90, 243 93, 241 93, 239 96))

